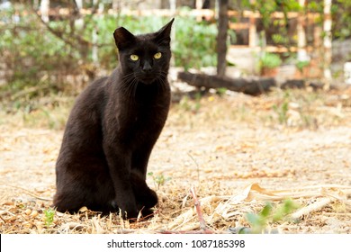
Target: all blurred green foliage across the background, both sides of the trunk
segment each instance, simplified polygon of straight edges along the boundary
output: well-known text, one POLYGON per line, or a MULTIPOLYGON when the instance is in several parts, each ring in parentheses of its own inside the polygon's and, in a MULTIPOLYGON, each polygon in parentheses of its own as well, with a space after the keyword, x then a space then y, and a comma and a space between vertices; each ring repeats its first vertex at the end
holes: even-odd
MULTIPOLYGON (((157 31, 169 21, 167 17, 156 15, 94 14, 97 5, 89 6, 93 14, 79 16, 75 7, 69 4, 71 2, 65 1, 69 14, 52 15, 49 23, 43 23, 33 11, 31 2, 12 1, 15 4, 11 8, 0 10, 0 77, 5 80, 0 83, 0 101, 10 101, 11 108, 28 107, 28 103, 38 96, 76 94, 96 76, 110 72, 118 64, 112 37, 117 27, 124 26, 139 34, 157 31), (93 57, 94 49, 97 49, 97 59, 93 57)), ((286 36, 286 19, 274 21, 270 14, 275 11, 284 14, 290 11, 323 13, 323 1, 309 1, 303 9, 295 0, 245 0, 231 1, 231 4, 237 4, 241 10, 258 11, 263 15, 265 27, 278 27, 272 38, 280 45, 289 44, 293 39, 286 36)), ((351 1, 333 1, 334 38, 351 36, 350 12, 351 1)), ((216 23, 196 22, 195 17, 179 15, 175 19, 174 31, 172 48, 175 67, 188 69, 217 64, 216 23)), ((236 39, 233 32, 229 32, 229 35, 231 40, 236 39)), ((267 60, 267 64, 273 61, 277 62, 267 60)))

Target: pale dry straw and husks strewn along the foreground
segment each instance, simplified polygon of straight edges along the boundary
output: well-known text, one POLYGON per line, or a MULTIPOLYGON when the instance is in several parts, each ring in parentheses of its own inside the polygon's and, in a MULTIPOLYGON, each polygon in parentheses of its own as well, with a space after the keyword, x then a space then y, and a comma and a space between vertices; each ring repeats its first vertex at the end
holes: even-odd
MULTIPOLYGON (((312 216, 338 217, 346 221, 344 229, 350 230, 351 186, 323 184, 302 186, 289 190, 267 190, 259 184, 249 184, 233 195, 207 196, 199 199, 195 188, 191 187, 183 201, 188 207, 181 211, 156 214, 149 220, 130 222, 121 220, 118 214, 101 217, 99 213, 83 207, 76 215, 56 212, 52 223, 46 223, 46 203, 7 202, 0 211, 2 233, 230 233, 230 229, 247 226, 245 214, 263 207, 263 202, 281 202, 294 199, 302 207, 289 216, 284 223, 272 223, 268 229, 278 229, 280 233, 290 233, 296 223, 312 216), (191 197, 193 197, 193 201, 191 197), (192 206, 193 204, 193 206, 192 206), (334 208, 330 211, 330 208, 334 208), (175 215, 175 217, 172 217, 175 215), (166 220, 166 221, 165 221, 166 220)), ((31 196, 33 196, 31 194, 31 196)), ((37 198, 38 199, 38 198, 37 198)), ((38 199, 41 201, 42 199, 38 199)), ((162 208, 168 206, 163 205, 162 208)), ((341 228, 341 227, 339 227, 341 228)), ((341 230, 341 229, 339 229, 341 230)))

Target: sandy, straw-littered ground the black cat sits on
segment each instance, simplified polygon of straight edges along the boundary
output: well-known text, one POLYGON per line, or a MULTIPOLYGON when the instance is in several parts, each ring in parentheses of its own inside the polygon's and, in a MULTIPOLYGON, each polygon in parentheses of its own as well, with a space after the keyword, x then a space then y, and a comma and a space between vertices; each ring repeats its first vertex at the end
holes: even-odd
POLYGON ((278 207, 284 198, 299 208, 268 218, 263 231, 351 233, 350 91, 181 98, 149 161, 156 215, 137 222, 84 208, 50 215, 59 121, 69 110, 52 111, 47 124, 37 117, 32 123, 35 111, 3 112, 0 233, 201 232, 199 217, 211 232, 225 233, 253 228, 247 213, 259 214, 266 202, 278 207), (194 195, 201 211, 194 211, 194 195))

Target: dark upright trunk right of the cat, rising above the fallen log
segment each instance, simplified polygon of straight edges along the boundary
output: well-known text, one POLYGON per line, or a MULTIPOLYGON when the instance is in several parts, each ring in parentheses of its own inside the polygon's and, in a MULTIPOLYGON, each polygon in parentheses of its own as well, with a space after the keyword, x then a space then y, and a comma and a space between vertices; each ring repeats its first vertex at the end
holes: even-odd
POLYGON ((217 76, 225 76, 227 67, 228 0, 219 1, 219 21, 217 35, 217 76))

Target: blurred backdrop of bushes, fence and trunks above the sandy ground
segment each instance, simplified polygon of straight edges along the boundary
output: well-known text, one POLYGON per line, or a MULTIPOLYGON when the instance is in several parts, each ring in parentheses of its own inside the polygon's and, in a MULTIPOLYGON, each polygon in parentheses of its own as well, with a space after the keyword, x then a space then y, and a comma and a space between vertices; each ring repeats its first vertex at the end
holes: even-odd
POLYGON ((157 31, 172 17, 179 71, 347 83, 350 14, 349 0, 0 0, 1 106, 64 103, 118 65, 117 27, 157 31))

